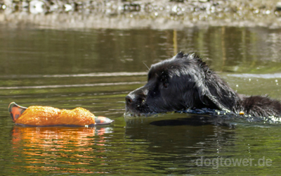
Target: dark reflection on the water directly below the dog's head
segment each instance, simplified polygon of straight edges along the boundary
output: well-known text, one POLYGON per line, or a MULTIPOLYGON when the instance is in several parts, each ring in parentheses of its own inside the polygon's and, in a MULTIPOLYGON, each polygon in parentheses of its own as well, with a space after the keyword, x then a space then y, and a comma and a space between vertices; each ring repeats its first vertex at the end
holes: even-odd
POLYGON ((220 118, 185 114, 185 118, 176 119, 128 118, 125 134, 129 139, 148 142, 151 152, 197 153, 210 146, 224 145, 227 140, 229 142, 235 129, 220 118))

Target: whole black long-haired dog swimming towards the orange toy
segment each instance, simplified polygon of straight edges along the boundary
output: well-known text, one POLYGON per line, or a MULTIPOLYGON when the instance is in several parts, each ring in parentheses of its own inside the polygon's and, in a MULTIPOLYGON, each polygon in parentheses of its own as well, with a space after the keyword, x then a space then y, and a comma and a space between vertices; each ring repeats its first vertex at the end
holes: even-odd
POLYGON ((152 65, 148 83, 126 96, 126 111, 134 115, 202 108, 256 117, 281 115, 279 101, 237 94, 200 57, 182 52, 152 65))

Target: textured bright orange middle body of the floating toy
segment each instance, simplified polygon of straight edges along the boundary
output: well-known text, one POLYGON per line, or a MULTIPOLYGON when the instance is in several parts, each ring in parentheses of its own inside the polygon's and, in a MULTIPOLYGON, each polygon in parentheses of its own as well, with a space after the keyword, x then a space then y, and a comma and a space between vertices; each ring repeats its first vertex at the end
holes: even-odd
POLYGON ((15 120, 17 124, 34 126, 94 125, 95 116, 84 108, 60 110, 49 106, 30 106, 15 120))

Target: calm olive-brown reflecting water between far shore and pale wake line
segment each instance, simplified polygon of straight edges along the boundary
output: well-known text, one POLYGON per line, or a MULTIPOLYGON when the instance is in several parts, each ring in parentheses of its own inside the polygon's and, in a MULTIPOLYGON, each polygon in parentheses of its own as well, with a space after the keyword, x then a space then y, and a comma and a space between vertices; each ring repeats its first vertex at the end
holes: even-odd
POLYGON ((0 27, 3 41, 0 75, 10 79, 20 75, 34 75, 34 78, 37 75, 96 77, 101 73, 108 73, 108 77, 113 73, 143 75, 147 71, 143 63, 150 66, 171 58, 177 51, 197 52, 211 68, 220 72, 276 73, 281 71, 280 33, 280 30, 235 27, 165 31, 0 27), (27 70, 30 65, 32 70, 27 70))

